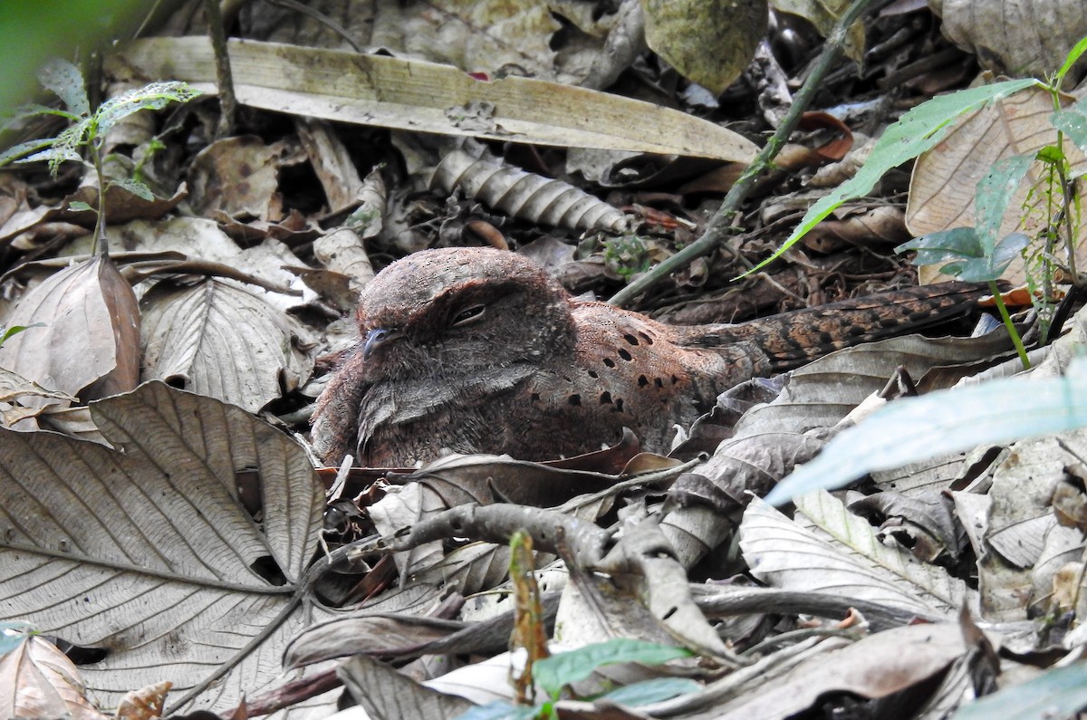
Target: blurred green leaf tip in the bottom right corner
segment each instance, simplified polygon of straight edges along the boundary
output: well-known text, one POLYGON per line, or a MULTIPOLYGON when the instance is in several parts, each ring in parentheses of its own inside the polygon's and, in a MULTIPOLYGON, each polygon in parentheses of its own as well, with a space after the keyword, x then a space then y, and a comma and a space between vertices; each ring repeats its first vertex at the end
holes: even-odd
POLYGON ((1080 660, 964 705, 951 720, 1072 718, 1084 707, 1087 707, 1087 662, 1080 660))

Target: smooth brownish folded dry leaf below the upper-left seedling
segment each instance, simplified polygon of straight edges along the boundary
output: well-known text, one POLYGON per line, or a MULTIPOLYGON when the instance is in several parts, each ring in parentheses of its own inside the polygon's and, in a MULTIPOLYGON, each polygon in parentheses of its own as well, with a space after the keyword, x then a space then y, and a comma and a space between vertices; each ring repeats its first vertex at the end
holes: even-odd
POLYGON ((8 326, 38 322, 45 326, 4 343, 0 367, 84 400, 136 387, 139 308, 109 257, 96 256, 53 274, 4 319, 8 326))

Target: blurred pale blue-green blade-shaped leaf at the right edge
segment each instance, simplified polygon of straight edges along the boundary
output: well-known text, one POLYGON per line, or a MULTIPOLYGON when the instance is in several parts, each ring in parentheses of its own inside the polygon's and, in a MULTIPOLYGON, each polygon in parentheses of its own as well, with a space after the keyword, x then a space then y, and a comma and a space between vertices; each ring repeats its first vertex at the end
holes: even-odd
POLYGON ((977 445, 1000 445, 1087 426, 1087 358, 1062 377, 1010 377, 889 402, 841 432, 766 496, 772 505, 848 485, 873 470, 977 445))

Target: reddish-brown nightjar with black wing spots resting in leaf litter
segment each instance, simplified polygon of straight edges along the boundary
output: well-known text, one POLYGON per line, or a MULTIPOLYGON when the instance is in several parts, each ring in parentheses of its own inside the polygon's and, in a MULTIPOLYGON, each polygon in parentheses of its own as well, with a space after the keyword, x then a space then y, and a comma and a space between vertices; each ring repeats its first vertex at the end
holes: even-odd
POLYGON ((744 323, 679 326, 572 297, 514 251, 413 252, 362 290, 359 340, 313 413, 317 457, 410 468, 450 452, 522 460, 632 430, 666 452, 717 395, 835 349, 964 314, 984 286, 941 283, 744 323))

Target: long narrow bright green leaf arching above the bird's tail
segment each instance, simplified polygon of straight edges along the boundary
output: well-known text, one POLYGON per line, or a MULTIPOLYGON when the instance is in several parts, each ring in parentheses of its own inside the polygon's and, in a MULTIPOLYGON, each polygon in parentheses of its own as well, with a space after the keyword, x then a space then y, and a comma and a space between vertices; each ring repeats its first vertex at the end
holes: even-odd
POLYGON ((857 175, 809 208, 785 244, 745 274, 753 273, 780 257, 846 200, 866 195, 888 170, 934 148, 958 117, 1032 86, 1041 86, 1041 83, 1034 78, 994 83, 941 95, 913 108, 884 131, 857 175))

